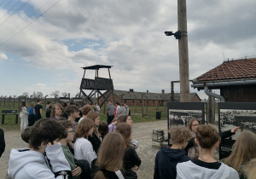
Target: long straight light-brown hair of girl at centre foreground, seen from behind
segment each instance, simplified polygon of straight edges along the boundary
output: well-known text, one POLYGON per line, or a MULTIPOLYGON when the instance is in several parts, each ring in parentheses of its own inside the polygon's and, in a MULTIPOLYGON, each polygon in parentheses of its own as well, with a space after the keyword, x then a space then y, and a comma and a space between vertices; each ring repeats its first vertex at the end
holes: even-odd
POLYGON ((117 132, 111 132, 105 136, 99 148, 96 165, 99 170, 96 172, 95 179, 105 179, 102 170, 116 171, 122 166, 125 153, 125 141, 123 136, 117 132))

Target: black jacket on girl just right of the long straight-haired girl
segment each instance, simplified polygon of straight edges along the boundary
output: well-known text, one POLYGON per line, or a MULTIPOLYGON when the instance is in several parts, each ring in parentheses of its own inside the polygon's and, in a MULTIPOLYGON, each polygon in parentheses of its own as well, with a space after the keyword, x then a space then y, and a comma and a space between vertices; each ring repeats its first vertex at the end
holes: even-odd
POLYGON ((125 149, 124 163, 123 167, 125 170, 125 178, 136 179, 137 173, 131 170, 135 165, 140 166, 142 160, 137 156, 134 147, 127 147, 125 149))

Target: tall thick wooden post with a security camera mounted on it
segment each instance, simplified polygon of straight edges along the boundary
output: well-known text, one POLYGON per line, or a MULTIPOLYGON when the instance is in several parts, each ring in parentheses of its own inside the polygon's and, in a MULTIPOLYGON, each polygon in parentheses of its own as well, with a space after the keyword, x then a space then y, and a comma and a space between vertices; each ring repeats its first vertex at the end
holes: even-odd
POLYGON ((177 0, 177 27, 181 31, 181 38, 178 39, 180 101, 189 102, 189 48, 186 0, 177 0))

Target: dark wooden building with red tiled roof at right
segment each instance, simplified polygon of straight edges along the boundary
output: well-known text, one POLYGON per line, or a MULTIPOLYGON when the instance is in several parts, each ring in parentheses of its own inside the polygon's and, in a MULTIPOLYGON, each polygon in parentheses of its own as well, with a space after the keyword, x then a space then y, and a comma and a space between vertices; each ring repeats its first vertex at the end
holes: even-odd
POLYGON ((224 61, 193 80, 198 90, 220 90, 226 102, 256 101, 256 58, 224 61))

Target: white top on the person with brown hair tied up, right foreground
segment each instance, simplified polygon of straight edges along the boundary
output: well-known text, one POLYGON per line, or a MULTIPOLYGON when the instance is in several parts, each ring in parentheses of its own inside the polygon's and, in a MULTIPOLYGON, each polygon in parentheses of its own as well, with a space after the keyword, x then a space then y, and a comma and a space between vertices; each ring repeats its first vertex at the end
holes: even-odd
POLYGON ((239 176, 235 169, 232 169, 228 165, 224 165, 224 163, 221 163, 218 170, 215 170, 215 169, 202 167, 200 165, 195 165, 195 163, 188 161, 182 164, 177 164, 177 179, 185 179, 185 178, 239 179, 239 176))

